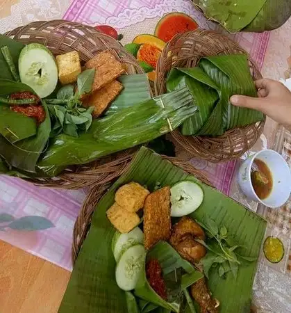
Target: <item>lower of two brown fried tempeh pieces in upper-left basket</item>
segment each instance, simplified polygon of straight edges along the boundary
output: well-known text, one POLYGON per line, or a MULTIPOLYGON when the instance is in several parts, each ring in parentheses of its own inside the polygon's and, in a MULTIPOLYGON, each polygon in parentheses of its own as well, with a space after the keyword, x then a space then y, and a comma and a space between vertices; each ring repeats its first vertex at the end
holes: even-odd
POLYGON ((93 116, 98 118, 111 102, 122 92, 123 86, 119 81, 111 81, 103 88, 83 99, 83 106, 94 106, 93 116))

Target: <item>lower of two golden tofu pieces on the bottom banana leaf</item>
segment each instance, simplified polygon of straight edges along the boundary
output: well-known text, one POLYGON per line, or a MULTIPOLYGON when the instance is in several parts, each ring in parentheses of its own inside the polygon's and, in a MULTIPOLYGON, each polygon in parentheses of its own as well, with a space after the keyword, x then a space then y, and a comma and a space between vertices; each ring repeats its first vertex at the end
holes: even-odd
POLYGON ((122 234, 128 233, 140 223, 138 214, 128 212, 116 202, 106 212, 113 226, 122 234))

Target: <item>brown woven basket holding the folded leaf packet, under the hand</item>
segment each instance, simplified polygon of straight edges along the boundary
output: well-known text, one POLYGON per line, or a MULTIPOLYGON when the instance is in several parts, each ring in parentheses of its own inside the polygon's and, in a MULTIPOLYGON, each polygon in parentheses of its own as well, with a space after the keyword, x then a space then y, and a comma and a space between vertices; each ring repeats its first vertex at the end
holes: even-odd
MULTIPOLYGON (((177 34, 167 43, 158 60, 155 81, 156 95, 165 93, 167 74, 172 67, 194 67, 203 56, 222 54, 247 54, 247 51, 244 51, 231 38, 214 31, 197 29, 177 34)), ((253 80, 262 78, 258 67, 250 57, 249 67, 253 80)), ((241 157, 260 138, 264 125, 265 121, 231 129, 218 137, 182 136, 178 130, 171 134, 174 142, 189 152, 192 157, 217 163, 241 157)))

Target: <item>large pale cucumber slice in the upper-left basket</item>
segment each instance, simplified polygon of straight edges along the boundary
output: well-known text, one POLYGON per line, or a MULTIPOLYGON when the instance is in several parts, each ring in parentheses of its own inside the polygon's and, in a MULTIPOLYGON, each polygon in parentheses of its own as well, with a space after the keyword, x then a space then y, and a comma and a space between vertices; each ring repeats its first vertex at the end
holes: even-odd
POLYGON ((38 43, 29 44, 20 52, 19 76, 22 83, 33 88, 40 98, 56 89, 58 67, 51 51, 38 43))

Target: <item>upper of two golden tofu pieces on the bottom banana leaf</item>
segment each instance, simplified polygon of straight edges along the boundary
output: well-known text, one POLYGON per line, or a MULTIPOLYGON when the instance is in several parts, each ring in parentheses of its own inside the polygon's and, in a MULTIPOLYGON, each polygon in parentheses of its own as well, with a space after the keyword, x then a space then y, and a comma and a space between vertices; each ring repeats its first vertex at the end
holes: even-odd
POLYGON ((115 201, 124 209, 136 212, 144 207, 144 201, 149 191, 136 182, 120 187, 115 193, 115 201))

